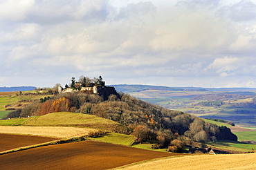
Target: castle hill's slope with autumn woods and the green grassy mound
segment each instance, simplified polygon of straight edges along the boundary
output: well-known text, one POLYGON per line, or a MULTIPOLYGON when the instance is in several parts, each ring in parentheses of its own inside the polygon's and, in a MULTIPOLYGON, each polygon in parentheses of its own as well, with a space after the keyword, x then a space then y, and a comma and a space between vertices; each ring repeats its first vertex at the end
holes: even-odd
MULTIPOLYGON (((155 141, 155 149, 167 148, 172 141, 237 140, 237 136, 226 126, 210 124, 190 114, 171 111, 124 93, 120 93, 118 97, 109 95, 108 100, 90 93, 75 91, 62 93, 47 97, 45 100, 30 102, 24 108, 12 111, 8 115, 8 117, 28 116, 31 118, 22 124, 82 126, 129 133, 136 138, 135 143, 155 141), (93 120, 93 117, 96 120, 93 120), (98 121, 100 117, 107 120, 98 121)), ((176 151, 182 149, 183 145, 176 151)))

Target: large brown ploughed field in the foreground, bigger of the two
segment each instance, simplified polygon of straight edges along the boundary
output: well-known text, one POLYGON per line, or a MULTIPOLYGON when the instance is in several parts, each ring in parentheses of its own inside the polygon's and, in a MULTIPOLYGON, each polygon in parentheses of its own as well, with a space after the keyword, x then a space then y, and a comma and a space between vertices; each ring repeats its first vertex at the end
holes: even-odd
POLYGON ((174 155, 181 154, 82 141, 0 155, 0 169, 111 169, 125 164, 174 155))

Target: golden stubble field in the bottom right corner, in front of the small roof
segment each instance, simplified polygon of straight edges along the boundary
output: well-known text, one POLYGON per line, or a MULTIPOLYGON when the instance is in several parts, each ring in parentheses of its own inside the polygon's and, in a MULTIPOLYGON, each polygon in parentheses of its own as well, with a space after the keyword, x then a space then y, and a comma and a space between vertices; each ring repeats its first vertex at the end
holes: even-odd
POLYGON ((136 164, 123 170, 142 169, 255 169, 256 153, 235 155, 194 155, 182 158, 168 158, 136 164))

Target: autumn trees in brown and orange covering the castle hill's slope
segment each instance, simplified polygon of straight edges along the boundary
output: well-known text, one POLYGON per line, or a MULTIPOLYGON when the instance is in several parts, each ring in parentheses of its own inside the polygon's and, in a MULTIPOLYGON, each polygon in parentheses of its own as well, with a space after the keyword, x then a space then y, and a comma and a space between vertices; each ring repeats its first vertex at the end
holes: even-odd
POLYGON ((237 140, 237 136, 225 126, 204 122, 188 113, 170 111, 125 93, 109 95, 108 100, 88 93, 63 93, 33 102, 10 113, 8 117, 45 115, 58 111, 97 115, 119 122, 129 128, 129 133, 136 136, 136 142, 156 140, 156 148, 170 147, 170 151, 180 151, 188 139, 198 142, 237 140))

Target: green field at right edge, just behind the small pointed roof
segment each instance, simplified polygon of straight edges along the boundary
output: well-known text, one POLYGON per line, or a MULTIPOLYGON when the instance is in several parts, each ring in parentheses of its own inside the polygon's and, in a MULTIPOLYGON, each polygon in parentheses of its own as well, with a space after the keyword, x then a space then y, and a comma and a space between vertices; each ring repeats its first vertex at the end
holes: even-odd
POLYGON ((256 144, 244 144, 241 142, 235 141, 217 141, 217 142, 206 142, 206 144, 210 147, 216 147, 219 149, 228 149, 231 151, 241 151, 241 152, 248 152, 256 150, 256 144))

